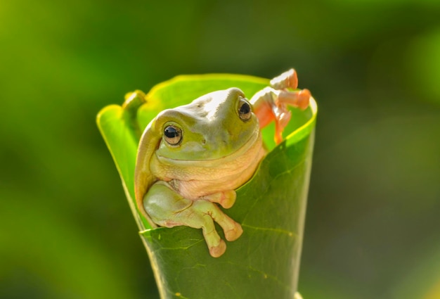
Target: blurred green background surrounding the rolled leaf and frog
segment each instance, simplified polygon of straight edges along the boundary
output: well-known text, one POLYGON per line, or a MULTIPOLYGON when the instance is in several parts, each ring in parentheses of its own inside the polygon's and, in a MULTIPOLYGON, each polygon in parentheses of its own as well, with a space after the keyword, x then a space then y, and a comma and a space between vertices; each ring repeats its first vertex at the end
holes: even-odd
POLYGON ((96 113, 291 67, 319 104, 299 291, 440 298, 439 1, 2 0, 0 54, 1 298, 157 298, 96 113))

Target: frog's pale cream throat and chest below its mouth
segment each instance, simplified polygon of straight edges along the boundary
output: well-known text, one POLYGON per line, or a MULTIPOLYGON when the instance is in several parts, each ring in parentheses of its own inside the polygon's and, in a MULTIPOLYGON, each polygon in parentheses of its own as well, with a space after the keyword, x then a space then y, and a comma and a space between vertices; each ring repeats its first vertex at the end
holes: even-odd
POLYGON ((150 167, 158 179, 169 182, 183 198, 195 200, 242 186, 252 177, 264 155, 259 137, 245 151, 224 158, 176 164, 164 163, 163 159, 153 155, 150 167))

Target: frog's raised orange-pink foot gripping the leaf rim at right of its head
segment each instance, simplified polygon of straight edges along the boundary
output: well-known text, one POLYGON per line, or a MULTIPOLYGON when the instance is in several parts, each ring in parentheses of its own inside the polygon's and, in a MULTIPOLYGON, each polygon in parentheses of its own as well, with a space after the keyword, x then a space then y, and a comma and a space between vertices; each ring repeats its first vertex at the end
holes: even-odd
POLYGON ((260 128, 266 127, 270 122, 275 122, 275 141, 283 141, 281 135, 285 126, 290 121, 291 113, 287 106, 306 109, 311 97, 308 89, 293 90, 298 87, 297 72, 290 69, 287 72, 271 79, 271 87, 266 87, 250 99, 254 113, 259 119, 260 128))

